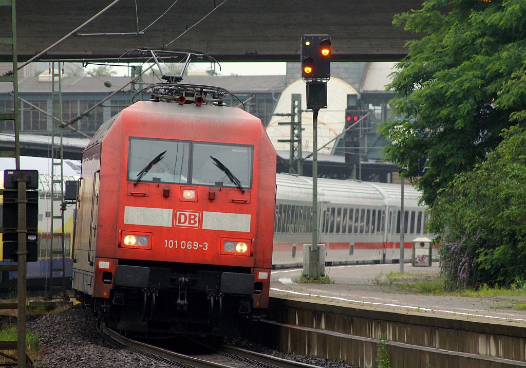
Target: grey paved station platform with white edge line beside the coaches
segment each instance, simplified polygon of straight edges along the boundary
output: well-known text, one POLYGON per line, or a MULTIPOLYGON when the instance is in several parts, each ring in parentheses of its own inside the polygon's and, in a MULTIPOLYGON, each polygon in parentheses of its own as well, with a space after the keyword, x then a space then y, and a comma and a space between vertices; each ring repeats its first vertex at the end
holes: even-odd
MULTIPOLYGON (((365 264, 326 267, 334 284, 298 283, 302 270, 271 272, 270 296, 315 299, 353 306, 375 307, 397 312, 457 316, 460 319, 509 321, 526 325, 526 310, 515 310, 516 303, 526 303, 526 296, 481 296, 415 294, 387 280, 398 272, 399 264, 365 264)), ((440 267, 404 265, 408 273, 438 274, 440 267)))

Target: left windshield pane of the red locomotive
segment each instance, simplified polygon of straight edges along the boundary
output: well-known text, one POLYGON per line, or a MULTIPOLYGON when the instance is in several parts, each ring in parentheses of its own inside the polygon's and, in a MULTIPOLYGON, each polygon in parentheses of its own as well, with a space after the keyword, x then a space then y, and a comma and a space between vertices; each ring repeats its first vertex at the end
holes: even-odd
POLYGON ((140 178, 141 182, 188 182, 188 152, 190 144, 173 140, 130 138, 128 180, 135 181, 159 154, 166 151, 160 161, 140 178))

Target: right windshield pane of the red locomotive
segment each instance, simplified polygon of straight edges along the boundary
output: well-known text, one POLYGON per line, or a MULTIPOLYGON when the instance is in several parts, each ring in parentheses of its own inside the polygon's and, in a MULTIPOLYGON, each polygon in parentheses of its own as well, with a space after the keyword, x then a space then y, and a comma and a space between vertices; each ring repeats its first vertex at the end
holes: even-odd
POLYGON ((228 175, 216 166, 214 157, 234 174, 245 189, 252 186, 252 146, 194 143, 192 184, 237 187, 228 175))

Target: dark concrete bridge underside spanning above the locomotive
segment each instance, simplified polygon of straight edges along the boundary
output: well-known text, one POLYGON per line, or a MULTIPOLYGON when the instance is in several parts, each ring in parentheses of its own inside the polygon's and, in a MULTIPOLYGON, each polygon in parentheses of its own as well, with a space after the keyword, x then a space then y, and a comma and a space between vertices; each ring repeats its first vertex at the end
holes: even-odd
MULTIPOLYGON (((139 30, 175 0, 137 0, 139 30)), ((222 0, 179 0, 144 35, 72 36, 45 57, 116 57, 138 47, 162 48, 222 0)), ((110 0, 17 0, 18 56, 25 61, 72 32, 110 0)), ((227 0, 168 47, 195 49, 218 61, 299 61, 302 34, 329 34, 333 61, 396 61, 414 35, 392 25, 395 14, 421 8, 422 0, 227 0)), ((10 34, 9 7, 0 7, 0 37, 10 34)), ((133 0, 120 0, 79 33, 136 32, 133 0)), ((0 45, 0 61, 11 49, 0 45)))

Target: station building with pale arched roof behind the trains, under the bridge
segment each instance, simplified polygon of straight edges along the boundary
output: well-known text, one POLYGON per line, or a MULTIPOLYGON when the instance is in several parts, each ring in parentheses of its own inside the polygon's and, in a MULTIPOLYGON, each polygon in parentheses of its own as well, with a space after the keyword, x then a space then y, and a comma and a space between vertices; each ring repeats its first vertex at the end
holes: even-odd
MULTIPOLYGON (((373 110, 368 118, 367 131, 360 137, 360 170, 350 174, 349 167, 346 166, 343 155, 336 148, 338 140, 328 145, 320 152, 320 174, 332 178, 361 178, 362 180, 396 182, 397 169, 393 165, 381 162, 381 148, 388 144, 377 133, 378 123, 390 118, 388 101, 394 96, 392 91, 385 91, 385 85, 389 83, 389 74, 395 63, 332 63, 329 87, 331 84, 339 87, 332 92, 333 102, 330 103, 328 111, 320 112, 320 118, 327 115, 324 124, 320 125, 319 144, 335 137, 345 126, 346 95, 356 94, 359 108, 373 110), (340 94, 341 96, 339 96, 340 94), (335 100, 336 98, 336 100, 335 100), (337 105, 337 106, 336 106, 337 105), (332 112, 329 112, 332 111, 332 112)), ((4 66, 0 63, 0 72, 4 66)), ((5 68, 5 67, 4 67, 5 68)), ((4 71, 5 72, 5 71, 4 71)), ((3 73, 2 73, 3 74, 3 73)), ((108 94, 116 91, 120 86, 130 82, 130 77, 116 76, 67 76, 62 78, 62 110, 63 121, 67 122, 78 114, 86 111, 99 101, 103 100, 108 94)), ((52 114, 52 78, 49 71, 35 71, 35 67, 29 64, 18 72, 19 76, 19 96, 26 102, 21 101, 21 120, 22 120, 22 153, 33 156, 48 156, 50 145, 50 130, 52 128, 52 118, 39 109, 52 114), (32 106, 33 105, 33 106, 32 106), (38 107, 35 108, 34 106, 38 107)), ((89 137, 93 136, 98 127, 114 116, 123 108, 128 106, 131 97, 135 92, 151 83, 159 83, 155 74, 145 76, 142 84, 130 85, 122 92, 115 94, 106 101, 102 107, 96 108, 92 114, 80 119, 72 125, 73 129, 64 130, 65 149, 64 156, 69 159, 78 159, 80 153, 86 146, 89 137)), ((283 118, 272 117, 273 113, 290 112, 290 93, 288 91, 303 91, 305 85, 301 81, 300 64, 287 63, 286 75, 267 75, 267 76, 213 76, 204 71, 189 71, 185 76, 184 83, 214 85, 227 89, 239 97, 245 103, 246 110, 259 117, 265 126, 272 140, 276 141, 275 147, 280 156, 282 165, 278 165, 278 172, 288 172, 287 162, 289 159, 288 148, 283 143, 277 142, 282 139, 285 128, 280 134, 272 131, 272 122, 283 121, 283 118), (282 102, 280 101, 282 98, 282 102), (288 101, 286 101, 288 100, 288 101), (279 107, 279 105, 282 107, 279 107), (281 111, 283 110, 283 111, 281 111), (278 137, 278 135, 280 135, 278 137)), ((58 89, 58 84, 55 83, 58 89)), ((0 86, 0 112, 12 111, 13 97, 9 95, 7 86, 0 86), (3 88, 3 89, 1 89, 3 88)), ((292 92, 291 92, 292 93, 292 92)), ((329 93, 330 88, 329 88, 329 93)), ((148 96, 144 96, 148 98, 148 96)), ((305 101, 305 96, 304 96, 305 101)), ((239 101, 227 99, 230 106, 239 105, 239 101)), ((57 108, 55 102, 55 108, 57 108)), ((305 105, 305 102, 304 102, 305 105)), ((306 155, 310 153, 312 144, 312 127, 309 113, 304 113, 304 134, 303 146, 306 155), (310 136, 309 136, 310 128, 310 136), (309 151, 310 145, 310 151, 309 151)), ((310 115, 312 115, 310 113, 310 115)), ((13 122, 0 122, 0 146, 9 149, 14 145, 13 122)), ((286 135, 286 134, 285 134, 286 135)), ((305 162, 304 175, 311 172, 309 160, 305 162)))

